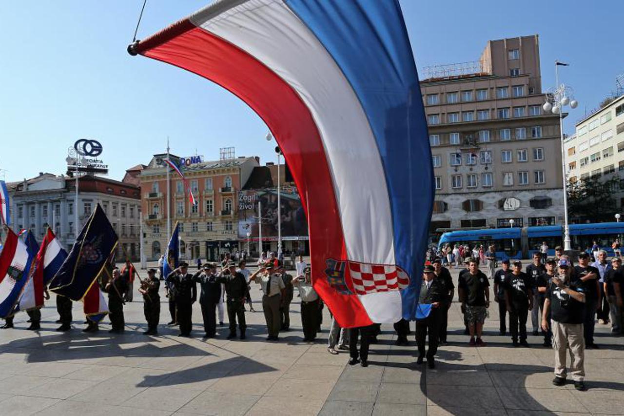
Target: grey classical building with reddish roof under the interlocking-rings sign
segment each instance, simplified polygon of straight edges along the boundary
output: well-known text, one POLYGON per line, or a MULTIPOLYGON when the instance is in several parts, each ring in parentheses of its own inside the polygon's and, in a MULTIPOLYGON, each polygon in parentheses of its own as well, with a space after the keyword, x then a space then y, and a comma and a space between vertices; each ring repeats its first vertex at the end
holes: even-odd
POLYGON ((99 176, 81 176, 76 207, 75 178, 41 172, 32 179, 7 185, 13 229, 28 229, 41 241, 50 226, 61 244, 69 249, 74 244, 76 232, 80 232, 92 210, 100 204, 119 236, 117 257, 123 258, 125 252, 133 260, 139 259, 138 186, 99 176))

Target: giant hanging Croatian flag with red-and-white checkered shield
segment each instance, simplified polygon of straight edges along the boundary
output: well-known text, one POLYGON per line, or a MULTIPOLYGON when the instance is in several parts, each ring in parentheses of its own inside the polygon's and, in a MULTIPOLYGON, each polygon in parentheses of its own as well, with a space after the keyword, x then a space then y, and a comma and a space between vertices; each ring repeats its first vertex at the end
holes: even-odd
POLYGON ((340 325, 415 319, 434 190, 398 0, 221 0, 129 52, 217 83, 266 122, 340 325))

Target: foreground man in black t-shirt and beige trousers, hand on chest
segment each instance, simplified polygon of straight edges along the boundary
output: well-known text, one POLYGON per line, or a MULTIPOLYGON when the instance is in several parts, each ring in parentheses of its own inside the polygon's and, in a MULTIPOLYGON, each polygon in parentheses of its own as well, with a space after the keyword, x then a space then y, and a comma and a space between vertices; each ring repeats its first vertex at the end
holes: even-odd
POLYGON ((585 289, 582 282, 570 278, 570 263, 567 259, 559 260, 559 275, 552 277, 546 290, 542 329, 552 330, 552 342, 555 349, 554 385, 565 385, 567 375, 566 359, 570 351, 570 375, 577 390, 585 390, 585 342, 583 339, 583 304, 585 289), (548 318, 550 317, 550 322, 548 318))

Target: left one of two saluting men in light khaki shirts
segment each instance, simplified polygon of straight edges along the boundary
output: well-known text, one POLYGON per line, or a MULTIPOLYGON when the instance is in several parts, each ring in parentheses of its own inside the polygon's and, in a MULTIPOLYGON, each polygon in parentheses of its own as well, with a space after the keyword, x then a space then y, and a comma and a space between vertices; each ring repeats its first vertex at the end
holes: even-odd
POLYGON ((250 282, 260 284, 263 292, 262 309, 265 312, 266 329, 268 331, 267 341, 276 341, 279 339, 281 325, 280 306, 281 299, 285 297, 284 280, 281 275, 274 272, 274 263, 266 262, 260 266, 250 277, 250 282))

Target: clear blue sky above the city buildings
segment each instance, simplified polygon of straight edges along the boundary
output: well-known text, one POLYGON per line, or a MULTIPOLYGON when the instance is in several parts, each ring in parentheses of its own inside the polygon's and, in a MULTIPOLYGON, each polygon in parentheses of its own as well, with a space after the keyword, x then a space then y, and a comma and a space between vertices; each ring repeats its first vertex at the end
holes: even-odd
MULTIPOLYGON (((348 1, 348 0, 341 0, 348 1)), ((489 39, 539 34, 543 86, 553 61, 575 89, 582 116, 615 89, 624 72, 622 15, 617 0, 500 2, 401 0, 416 64, 475 61, 489 39), (563 5, 558 9, 557 5, 563 5)), ((208 4, 148 0, 139 38, 208 4)), ((273 161, 266 127, 243 102, 190 72, 125 51, 141 0, 0 2, 0 169, 17 181, 65 171, 67 148, 98 139, 112 179, 165 151, 273 161)), ((2 172, 0 172, 2 178, 2 172)))

